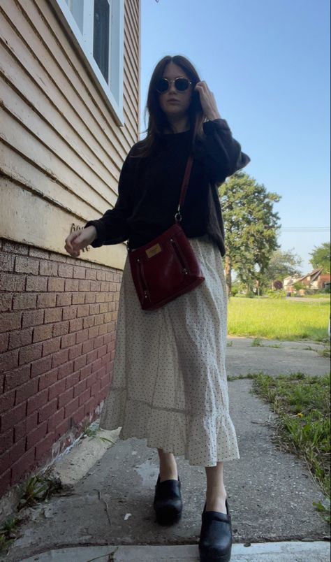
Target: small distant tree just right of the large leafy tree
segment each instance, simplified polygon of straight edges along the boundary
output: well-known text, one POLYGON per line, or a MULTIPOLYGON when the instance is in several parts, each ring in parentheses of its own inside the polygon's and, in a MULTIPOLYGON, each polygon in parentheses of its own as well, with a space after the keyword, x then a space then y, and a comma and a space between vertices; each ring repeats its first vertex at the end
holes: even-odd
POLYGON ((302 259, 297 254, 294 254, 293 250, 294 248, 287 252, 282 252, 278 249, 272 252, 263 280, 261 280, 264 286, 272 287, 273 281, 283 281, 288 275, 302 275, 300 271, 302 259))

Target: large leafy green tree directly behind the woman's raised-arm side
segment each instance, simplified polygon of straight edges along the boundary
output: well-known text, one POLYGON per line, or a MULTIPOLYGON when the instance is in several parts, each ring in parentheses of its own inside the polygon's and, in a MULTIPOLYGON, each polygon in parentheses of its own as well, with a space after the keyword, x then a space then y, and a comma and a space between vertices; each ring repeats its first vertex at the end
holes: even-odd
POLYGON ((231 271, 251 290, 261 281, 276 250, 279 215, 273 204, 281 198, 267 192, 247 173, 238 171, 219 187, 226 237, 226 284, 231 294, 231 271), (256 267, 259 271, 256 272, 256 267))

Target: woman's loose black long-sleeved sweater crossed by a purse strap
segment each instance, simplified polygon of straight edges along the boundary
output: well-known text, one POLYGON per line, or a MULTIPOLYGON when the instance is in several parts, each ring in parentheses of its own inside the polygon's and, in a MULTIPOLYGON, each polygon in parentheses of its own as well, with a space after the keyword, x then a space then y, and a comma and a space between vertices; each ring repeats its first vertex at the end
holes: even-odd
MULTIPOLYGON (((223 119, 203 124, 204 141, 194 147, 194 160, 182 228, 188 238, 208 233, 225 254, 224 227, 217 186, 250 161, 223 119)), ((119 196, 101 219, 87 222, 98 237, 93 247, 128 240, 131 248, 145 245, 175 222, 180 189, 191 150, 191 131, 159 136, 151 157, 135 157, 133 145, 119 176, 119 196)))

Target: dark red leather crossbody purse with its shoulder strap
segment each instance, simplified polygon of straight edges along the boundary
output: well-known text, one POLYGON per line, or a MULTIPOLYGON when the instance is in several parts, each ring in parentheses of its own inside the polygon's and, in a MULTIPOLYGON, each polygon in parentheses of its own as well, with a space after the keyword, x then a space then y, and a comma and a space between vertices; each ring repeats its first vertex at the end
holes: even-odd
POLYGON ((205 278, 196 254, 179 222, 193 164, 192 155, 186 164, 175 224, 136 250, 129 250, 128 258, 135 290, 141 308, 155 310, 195 287, 205 278))

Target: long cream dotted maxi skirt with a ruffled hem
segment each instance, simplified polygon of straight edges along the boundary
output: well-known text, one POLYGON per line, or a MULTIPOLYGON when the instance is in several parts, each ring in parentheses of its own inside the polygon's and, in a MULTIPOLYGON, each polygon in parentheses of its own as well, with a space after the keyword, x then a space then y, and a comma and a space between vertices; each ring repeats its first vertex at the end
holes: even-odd
POLYGON ((184 455, 191 466, 239 459, 226 378, 227 292, 219 248, 189 239, 205 281, 162 308, 140 308, 124 266, 104 429, 184 455))

